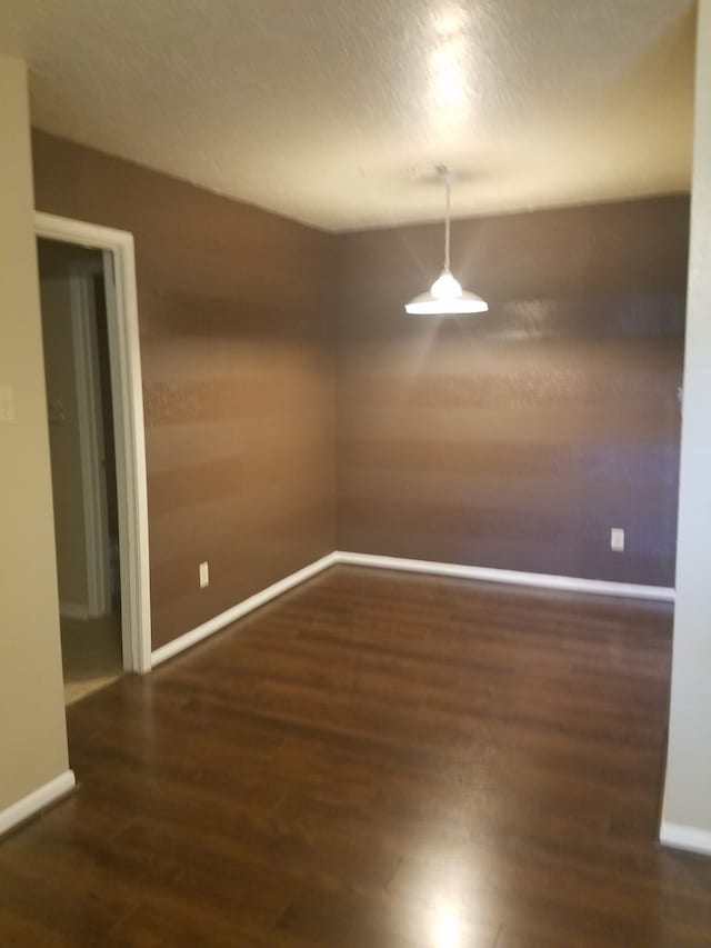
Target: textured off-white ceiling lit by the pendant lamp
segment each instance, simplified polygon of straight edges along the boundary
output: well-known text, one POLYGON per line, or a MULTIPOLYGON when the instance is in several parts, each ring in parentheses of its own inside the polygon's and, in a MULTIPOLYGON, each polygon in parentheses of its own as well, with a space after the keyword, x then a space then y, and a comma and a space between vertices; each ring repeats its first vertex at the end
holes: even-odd
POLYGON ((47 131, 333 230, 685 190, 690 0, 0 0, 47 131))

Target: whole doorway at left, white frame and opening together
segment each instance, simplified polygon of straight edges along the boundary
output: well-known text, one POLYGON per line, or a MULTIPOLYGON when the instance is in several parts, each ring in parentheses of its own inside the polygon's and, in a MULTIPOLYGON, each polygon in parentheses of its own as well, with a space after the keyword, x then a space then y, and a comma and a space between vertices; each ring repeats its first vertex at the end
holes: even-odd
POLYGON ((133 238, 36 214, 64 667, 72 703, 150 670, 133 238))

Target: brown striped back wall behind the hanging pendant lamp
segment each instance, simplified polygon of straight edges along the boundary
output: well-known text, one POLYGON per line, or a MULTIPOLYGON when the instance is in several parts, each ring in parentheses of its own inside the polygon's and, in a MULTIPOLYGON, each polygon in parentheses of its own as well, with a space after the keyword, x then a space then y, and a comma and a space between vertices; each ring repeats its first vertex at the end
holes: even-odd
POLYGON ((339 240, 339 549, 673 585, 689 201, 339 240), (610 550, 624 527, 627 552, 610 550))

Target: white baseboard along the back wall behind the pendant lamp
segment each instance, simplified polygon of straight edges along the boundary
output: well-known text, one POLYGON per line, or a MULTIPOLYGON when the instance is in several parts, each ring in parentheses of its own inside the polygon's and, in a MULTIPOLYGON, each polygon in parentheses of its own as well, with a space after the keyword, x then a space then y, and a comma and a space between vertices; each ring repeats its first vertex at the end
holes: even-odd
POLYGON ((491 569, 463 563, 433 562, 431 560, 381 557, 371 553, 350 553, 339 550, 336 562, 348 566, 369 566, 375 569, 398 569, 409 572, 429 572, 458 579, 478 579, 483 582, 509 582, 538 589, 558 589, 563 592, 588 592, 594 596, 621 596, 630 599, 654 599, 673 602, 674 590, 665 586, 642 586, 634 582, 611 582, 605 579, 581 579, 574 576, 551 576, 544 572, 519 572, 512 569, 491 569))

